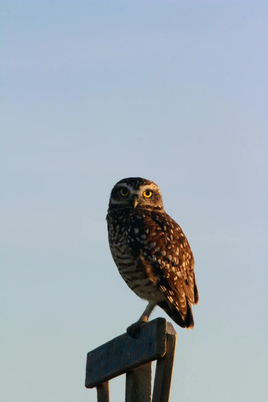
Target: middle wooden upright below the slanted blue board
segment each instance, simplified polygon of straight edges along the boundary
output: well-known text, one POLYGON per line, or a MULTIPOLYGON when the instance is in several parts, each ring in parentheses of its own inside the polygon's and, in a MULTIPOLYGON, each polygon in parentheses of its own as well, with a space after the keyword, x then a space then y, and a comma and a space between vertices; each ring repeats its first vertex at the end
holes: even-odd
POLYGON ((151 361, 126 373, 125 402, 151 402, 151 361))

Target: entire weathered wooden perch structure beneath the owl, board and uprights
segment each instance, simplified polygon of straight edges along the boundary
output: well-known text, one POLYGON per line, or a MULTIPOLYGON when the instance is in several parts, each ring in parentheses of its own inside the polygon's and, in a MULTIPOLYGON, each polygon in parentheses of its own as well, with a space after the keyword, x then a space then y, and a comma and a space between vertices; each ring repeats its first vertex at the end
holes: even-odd
POLYGON ((85 386, 97 387, 98 402, 109 402, 109 380, 126 373, 126 402, 151 402, 151 362, 157 360, 152 402, 168 402, 175 347, 172 324, 149 321, 138 338, 125 333, 88 352, 85 386))

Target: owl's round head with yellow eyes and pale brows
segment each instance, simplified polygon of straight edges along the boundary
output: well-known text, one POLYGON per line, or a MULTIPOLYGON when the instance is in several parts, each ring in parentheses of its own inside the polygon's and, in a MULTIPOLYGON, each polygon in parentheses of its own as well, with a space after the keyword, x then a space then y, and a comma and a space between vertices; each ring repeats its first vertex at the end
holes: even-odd
POLYGON ((158 185, 141 177, 120 180, 111 190, 109 209, 120 208, 162 210, 164 207, 158 185))

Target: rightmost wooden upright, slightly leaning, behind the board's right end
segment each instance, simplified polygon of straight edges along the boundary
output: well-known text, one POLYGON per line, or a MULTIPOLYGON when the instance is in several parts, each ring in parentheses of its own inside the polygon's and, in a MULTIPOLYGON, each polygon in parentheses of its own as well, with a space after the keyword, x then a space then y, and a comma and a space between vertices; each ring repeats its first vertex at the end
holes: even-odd
POLYGON ((167 322, 166 354, 157 360, 152 402, 168 402, 176 350, 177 334, 173 325, 167 322))

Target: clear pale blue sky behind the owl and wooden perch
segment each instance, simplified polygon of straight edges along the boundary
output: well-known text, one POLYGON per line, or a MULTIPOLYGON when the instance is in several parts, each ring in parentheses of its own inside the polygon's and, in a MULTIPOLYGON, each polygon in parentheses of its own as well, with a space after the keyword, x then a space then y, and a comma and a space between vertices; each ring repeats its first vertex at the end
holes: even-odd
POLYGON ((145 308, 107 240, 129 176, 196 260, 171 402, 268 400, 267 21, 258 0, 1 2, 3 402, 97 400, 87 352, 145 308))

